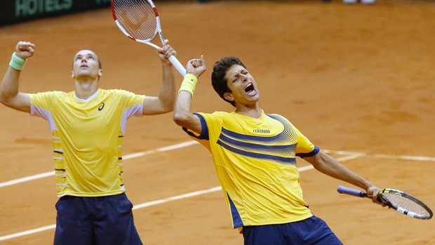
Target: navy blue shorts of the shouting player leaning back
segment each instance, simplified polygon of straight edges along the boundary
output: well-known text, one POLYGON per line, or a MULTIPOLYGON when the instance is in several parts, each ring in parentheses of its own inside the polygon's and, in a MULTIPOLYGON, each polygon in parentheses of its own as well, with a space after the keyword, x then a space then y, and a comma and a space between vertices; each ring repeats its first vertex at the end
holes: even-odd
POLYGON ((243 227, 245 245, 342 245, 325 221, 313 216, 279 225, 243 227))

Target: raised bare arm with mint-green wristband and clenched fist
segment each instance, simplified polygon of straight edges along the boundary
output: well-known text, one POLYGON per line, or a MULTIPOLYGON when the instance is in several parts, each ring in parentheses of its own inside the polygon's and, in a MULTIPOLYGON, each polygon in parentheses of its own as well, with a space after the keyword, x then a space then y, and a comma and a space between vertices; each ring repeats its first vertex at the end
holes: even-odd
POLYGON ((28 41, 18 42, 0 86, 0 102, 21 112, 30 112, 30 99, 29 94, 19 90, 20 73, 27 58, 33 56, 34 50, 34 44, 28 41))

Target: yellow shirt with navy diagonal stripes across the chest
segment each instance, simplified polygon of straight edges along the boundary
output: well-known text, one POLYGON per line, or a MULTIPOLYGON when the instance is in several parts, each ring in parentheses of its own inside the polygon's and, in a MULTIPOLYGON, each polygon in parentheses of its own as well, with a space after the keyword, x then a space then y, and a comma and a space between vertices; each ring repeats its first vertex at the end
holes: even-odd
MULTIPOLYGON (((213 154, 233 227, 272 225, 312 216, 302 197, 296 156, 319 152, 278 114, 196 113, 202 133, 189 135, 213 154)), ((185 129, 186 130, 186 129, 185 129)))

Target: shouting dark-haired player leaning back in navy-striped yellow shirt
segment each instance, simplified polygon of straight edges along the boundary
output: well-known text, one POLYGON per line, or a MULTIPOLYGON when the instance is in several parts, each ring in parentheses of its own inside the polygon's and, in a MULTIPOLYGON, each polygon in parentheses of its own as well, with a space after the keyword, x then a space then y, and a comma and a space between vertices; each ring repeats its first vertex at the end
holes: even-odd
POLYGON ((196 82, 205 70, 203 56, 189 60, 173 119, 211 152, 232 225, 244 244, 341 245, 304 200, 296 157, 361 187, 374 202, 379 189, 321 152, 288 119, 264 112, 257 83, 239 58, 222 58, 211 74, 216 93, 235 110, 192 113, 196 82))

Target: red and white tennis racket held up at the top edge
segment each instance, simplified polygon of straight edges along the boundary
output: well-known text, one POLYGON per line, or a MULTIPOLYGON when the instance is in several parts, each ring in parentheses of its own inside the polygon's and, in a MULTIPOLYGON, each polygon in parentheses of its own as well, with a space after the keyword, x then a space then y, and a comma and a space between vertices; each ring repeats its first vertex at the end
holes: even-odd
MULTIPOLYGON (((154 48, 152 39, 159 34, 161 44, 165 41, 161 32, 159 13, 151 0, 112 0, 112 15, 116 25, 127 37, 154 48)), ((170 62, 184 77, 186 69, 174 55, 170 62)))

